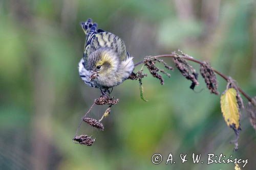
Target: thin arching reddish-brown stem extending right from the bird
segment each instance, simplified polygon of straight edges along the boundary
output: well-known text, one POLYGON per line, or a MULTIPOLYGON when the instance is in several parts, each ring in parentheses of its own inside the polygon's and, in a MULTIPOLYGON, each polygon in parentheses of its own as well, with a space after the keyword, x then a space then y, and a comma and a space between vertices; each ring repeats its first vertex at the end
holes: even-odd
MULTIPOLYGON (((157 56, 152 56, 152 57, 155 57, 155 58, 172 57, 172 58, 174 58, 174 57, 177 57, 177 55, 175 55, 175 54, 163 54, 163 55, 157 55, 157 56)), ((185 60, 193 61, 193 62, 198 63, 198 64, 203 64, 202 61, 199 61, 199 60, 194 59, 194 58, 192 58, 192 57, 182 56, 182 58, 184 58, 185 60)), ((144 63, 144 61, 140 61, 140 62, 134 64, 134 66, 140 65, 140 64, 142 64, 142 63, 144 63)), ((214 72, 216 72, 216 74, 218 74, 219 76, 221 76, 221 77, 222 77, 223 79, 225 79, 226 81, 229 80, 229 78, 228 78, 226 75, 222 74, 220 71, 214 69, 214 72)), ((251 97, 250 97, 248 94, 246 94, 246 92, 244 92, 239 86, 238 86, 238 90, 245 96, 245 98, 246 98, 249 102, 251 102, 251 100, 252 100, 251 97)))

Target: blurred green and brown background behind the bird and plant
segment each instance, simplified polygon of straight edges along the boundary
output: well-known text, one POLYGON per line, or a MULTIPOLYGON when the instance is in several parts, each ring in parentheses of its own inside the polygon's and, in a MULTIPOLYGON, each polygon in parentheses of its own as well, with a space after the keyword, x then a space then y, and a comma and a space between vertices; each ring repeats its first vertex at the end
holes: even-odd
MULTIPOLYGON (((137 81, 115 87, 120 102, 103 119, 105 130, 82 124, 79 134, 96 141, 92 147, 73 143, 80 118, 100 94, 77 69, 85 40, 79 22, 88 17, 120 36, 135 62, 180 48, 256 95, 255 1, 2 0, 0 169, 234 169, 207 165, 208 153, 248 158, 244 169, 255 169, 248 113, 242 111, 240 150, 233 152, 220 96, 210 94, 201 77, 196 91, 203 91, 195 93, 177 69, 163 86, 151 76, 143 79, 147 103, 137 81), (151 162, 154 153, 163 155, 161 164, 151 162), (169 153, 176 164, 165 164, 169 153), (181 163, 180 153, 188 162, 181 163), (192 153, 201 153, 205 163, 193 164, 192 153)), ((218 81, 222 92, 226 82, 218 81)), ((95 107, 90 116, 100 118, 106 107, 95 107)))

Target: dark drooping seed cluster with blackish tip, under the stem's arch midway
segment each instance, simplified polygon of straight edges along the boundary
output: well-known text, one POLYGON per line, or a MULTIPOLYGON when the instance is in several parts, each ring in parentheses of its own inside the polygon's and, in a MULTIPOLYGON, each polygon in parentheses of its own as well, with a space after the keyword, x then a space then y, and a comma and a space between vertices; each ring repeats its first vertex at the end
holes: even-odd
POLYGON ((175 66, 180 70, 182 76, 184 76, 187 80, 190 80, 192 82, 190 88, 194 90, 196 85, 199 85, 198 83, 198 74, 196 70, 187 63, 185 59, 182 57, 174 57, 173 61, 175 63, 175 66))

